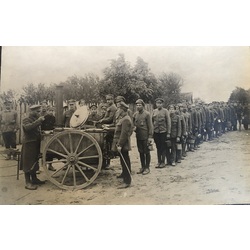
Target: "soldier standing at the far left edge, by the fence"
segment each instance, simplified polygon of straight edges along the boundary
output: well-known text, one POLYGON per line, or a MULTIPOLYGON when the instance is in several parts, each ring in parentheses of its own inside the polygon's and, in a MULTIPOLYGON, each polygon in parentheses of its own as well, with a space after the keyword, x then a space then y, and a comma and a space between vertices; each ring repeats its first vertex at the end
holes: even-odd
POLYGON ((19 129, 17 122, 17 112, 11 110, 11 101, 4 102, 5 109, 0 114, 0 130, 2 132, 2 137, 4 145, 7 151, 6 160, 13 159, 17 160, 16 156, 16 132, 19 129))

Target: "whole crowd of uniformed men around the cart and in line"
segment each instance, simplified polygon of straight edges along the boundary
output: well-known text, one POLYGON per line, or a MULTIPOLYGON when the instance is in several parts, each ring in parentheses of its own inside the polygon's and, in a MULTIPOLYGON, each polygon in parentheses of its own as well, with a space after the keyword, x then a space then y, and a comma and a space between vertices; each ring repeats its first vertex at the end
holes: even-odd
MULTIPOLYGON (((16 149, 16 132, 19 129, 17 113, 11 109, 11 103, 5 102, 5 109, 0 114, 1 132, 8 151, 7 160, 16 149), (14 150, 14 151, 13 151, 14 150)), ((113 155, 120 157, 122 172, 117 178, 123 179, 121 188, 131 185, 131 135, 135 132, 137 148, 140 156, 140 168, 137 174, 150 173, 151 151, 153 142, 156 146, 156 168, 168 165, 175 167, 187 157, 188 152, 194 152, 205 141, 211 141, 227 132, 248 129, 250 123, 250 108, 236 103, 213 102, 178 103, 164 106, 164 99, 155 100, 156 108, 152 113, 145 109, 142 99, 136 102, 136 112, 129 109, 123 96, 109 94, 106 103, 99 106, 91 105, 85 124, 107 130, 106 145, 113 155)), ((84 100, 78 106, 86 105, 84 100)), ((70 127, 70 119, 76 110, 76 102, 70 100, 63 115, 64 127, 70 127)), ((55 128, 54 109, 46 102, 30 107, 29 116, 23 120, 23 141, 21 152, 21 168, 25 173, 25 188, 37 189, 44 184, 37 178, 39 170, 41 130, 55 128)), ((16 159, 15 153, 13 153, 16 159)), ((48 161, 50 161, 48 155, 48 161)), ((53 159, 53 158, 52 158, 53 159)), ((52 160, 51 159, 51 160, 52 160)), ((107 159, 105 168, 110 166, 107 159)), ((52 164, 48 169, 55 171, 52 164)))

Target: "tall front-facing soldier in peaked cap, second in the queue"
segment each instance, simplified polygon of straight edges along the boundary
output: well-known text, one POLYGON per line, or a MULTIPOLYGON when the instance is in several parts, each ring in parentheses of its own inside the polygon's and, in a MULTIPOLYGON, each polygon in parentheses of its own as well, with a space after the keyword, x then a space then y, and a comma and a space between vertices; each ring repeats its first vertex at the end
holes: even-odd
POLYGON ((156 109, 153 110, 152 121, 154 127, 154 141, 157 149, 158 163, 156 168, 165 167, 166 139, 170 138, 171 120, 167 109, 163 108, 164 100, 155 100, 156 109))

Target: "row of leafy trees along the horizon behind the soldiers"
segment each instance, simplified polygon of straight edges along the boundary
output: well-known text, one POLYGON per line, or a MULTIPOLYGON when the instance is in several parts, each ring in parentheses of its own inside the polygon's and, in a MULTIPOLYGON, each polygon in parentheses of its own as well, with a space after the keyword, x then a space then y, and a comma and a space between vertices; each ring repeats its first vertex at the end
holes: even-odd
MULTIPOLYGON (((126 61, 123 54, 112 59, 108 67, 103 69, 103 77, 88 73, 84 76, 73 75, 60 82, 63 85, 64 100, 83 99, 88 103, 104 101, 106 94, 122 95, 127 103, 134 103, 142 98, 146 103, 153 103, 157 97, 165 99, 165 105, 179 103, 182 100, 181 88, 183 78, 174 72, 163 72, 156 76, 147 62, 138 57, 134 66, 126 61)), ((35 104, 46 100, 55 101, 56 84, 27 83, 21 95, 15 90, 8 90, 0 95, 2 101, 11 99, 19 103, 35 104)), ((250 89, 236 87, 229 101, 250 103, 250 89)))

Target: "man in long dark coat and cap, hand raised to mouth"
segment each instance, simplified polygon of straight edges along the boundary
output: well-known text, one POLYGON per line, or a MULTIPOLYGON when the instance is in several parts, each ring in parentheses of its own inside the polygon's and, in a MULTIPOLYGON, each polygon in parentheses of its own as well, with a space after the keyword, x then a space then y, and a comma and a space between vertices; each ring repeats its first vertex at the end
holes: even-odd
POLYGON ((41 143, 41 124, 44 117, 40 116, 41 106, 33 105, 30 107, 29 116, 23 120, 23 142, 21 150, 21 169, 25 175, 25 188, 29 190, 37 189, 37 185, 42 185, 36 176, 39 169, 39 155, 41 143))

